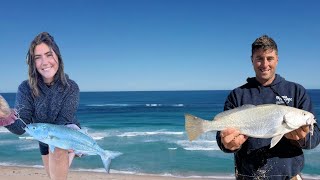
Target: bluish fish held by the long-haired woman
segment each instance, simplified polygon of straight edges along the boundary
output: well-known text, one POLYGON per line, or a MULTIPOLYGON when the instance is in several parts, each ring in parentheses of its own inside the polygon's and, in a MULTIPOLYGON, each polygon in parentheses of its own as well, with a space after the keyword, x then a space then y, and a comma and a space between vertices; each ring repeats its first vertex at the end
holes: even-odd
POLYGON ((48 144, 51 152, 54 152, 55 147, 59 147, 67 150, 72 149, 76 154, 100 155, 107 173, 110 170, 111 159, 121 155, 120 152, 103 150, 86 133, 66 126, 32 123, 25 127, 25 131, 34 139, 48 144))

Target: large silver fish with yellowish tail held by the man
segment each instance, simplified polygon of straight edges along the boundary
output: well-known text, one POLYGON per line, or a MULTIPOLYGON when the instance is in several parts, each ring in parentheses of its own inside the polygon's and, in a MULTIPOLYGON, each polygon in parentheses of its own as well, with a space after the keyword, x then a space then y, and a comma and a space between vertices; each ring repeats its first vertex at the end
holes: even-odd
POLYGON ((217 114, 213 121, 185 115, 185 128, 190 141, 208 131, 235 128, 250 137, 272 138, 270 148, 274 147, 284 134, 303 125, 311 126, 312 135, 314 123, 316 120, 312 113, 276 104, 243 105, 217 114))

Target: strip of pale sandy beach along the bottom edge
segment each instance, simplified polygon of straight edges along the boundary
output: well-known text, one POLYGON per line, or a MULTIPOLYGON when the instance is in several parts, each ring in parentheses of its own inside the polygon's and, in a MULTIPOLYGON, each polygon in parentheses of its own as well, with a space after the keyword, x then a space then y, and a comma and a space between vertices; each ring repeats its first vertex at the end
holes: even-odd
MULTIPOLYGON (((43 168, 0 166, 0 180, 48 180, 48 176, 43 168)), ((69 172, 68 180, 206 180, 225 178, 183 178, 157 175, 134 175, 134 174, 106 174, 103 172, 73 171, 69 172)), ((233 179, 233 178, 229 178, 233 179)))

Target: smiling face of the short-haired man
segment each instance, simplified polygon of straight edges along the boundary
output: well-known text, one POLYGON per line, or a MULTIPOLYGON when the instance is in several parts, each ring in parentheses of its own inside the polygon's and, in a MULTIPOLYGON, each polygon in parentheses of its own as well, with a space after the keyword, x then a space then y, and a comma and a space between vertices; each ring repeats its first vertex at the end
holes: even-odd
POLYGON ((278 55, 273 49, 258 49, 251 57, 256 79, 263 85, 269 85, 275 78, 278 55))

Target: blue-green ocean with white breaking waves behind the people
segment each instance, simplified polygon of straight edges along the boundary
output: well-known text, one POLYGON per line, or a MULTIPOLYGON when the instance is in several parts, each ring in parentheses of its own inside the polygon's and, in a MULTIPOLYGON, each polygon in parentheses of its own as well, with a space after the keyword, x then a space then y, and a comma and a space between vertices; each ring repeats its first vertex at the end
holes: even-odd
MULTIPOLYGON (((233 154, 223 153, 215 132, 190 142, 184 114, 212 119, 230 91, 81 92, 77 117, 106 150, 122 152, 111 173, 178 177, 234 177, 233 154)), ((320 117, 320 90, 308 90, 320 117)), ((2 93, 10 106, 15 93, 2 93)), ((303 174, 320 178, 320 148, 305 150, 303 174)), ((41 167, 38 143, 0 127, 0 165, 41 167)), ((104 171, 99 156, 76 158, 73 170, 104 171)))

